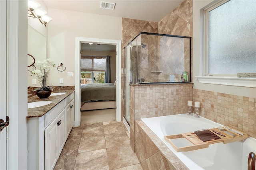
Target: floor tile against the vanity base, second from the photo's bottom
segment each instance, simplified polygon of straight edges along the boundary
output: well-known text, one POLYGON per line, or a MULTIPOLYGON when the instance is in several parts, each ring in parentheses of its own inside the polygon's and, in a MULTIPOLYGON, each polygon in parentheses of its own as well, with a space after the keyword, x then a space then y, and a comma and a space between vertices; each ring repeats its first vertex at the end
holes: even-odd
POLYGON ((77 154, 79 144, 80 144, 80 138, 68 139, 68 141, 64 145, 64 148, 62 149, 60 156, 77 154))

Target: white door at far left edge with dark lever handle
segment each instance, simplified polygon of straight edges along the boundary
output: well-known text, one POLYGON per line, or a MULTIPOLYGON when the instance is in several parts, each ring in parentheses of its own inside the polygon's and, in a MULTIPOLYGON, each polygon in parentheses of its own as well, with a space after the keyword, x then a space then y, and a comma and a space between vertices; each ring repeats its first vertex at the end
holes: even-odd
MULTIPOLYGON (((6 121, 6 1, 0 0, 0 119, 6 121)), ((0 132, 0 169, 6 168, 6 127, 0 132)))

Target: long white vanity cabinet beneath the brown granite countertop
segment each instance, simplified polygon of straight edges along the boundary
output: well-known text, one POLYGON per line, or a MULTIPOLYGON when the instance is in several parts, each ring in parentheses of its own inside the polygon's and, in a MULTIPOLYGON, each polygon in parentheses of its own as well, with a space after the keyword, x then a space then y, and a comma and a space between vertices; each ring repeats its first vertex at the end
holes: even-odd
POLYGON ((74 92, 44 115, 28 117, 28 169, 53 170, 73 125, 74 92))

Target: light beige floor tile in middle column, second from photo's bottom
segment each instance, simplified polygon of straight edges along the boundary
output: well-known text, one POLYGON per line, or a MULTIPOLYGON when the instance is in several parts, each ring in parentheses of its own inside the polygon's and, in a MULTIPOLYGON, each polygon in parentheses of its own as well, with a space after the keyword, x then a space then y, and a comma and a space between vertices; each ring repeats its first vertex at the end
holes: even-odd
POLYGON ((88 152, 92 150, 106 149, 104 135, 82 137, 78 148, 78 153, 88 152))

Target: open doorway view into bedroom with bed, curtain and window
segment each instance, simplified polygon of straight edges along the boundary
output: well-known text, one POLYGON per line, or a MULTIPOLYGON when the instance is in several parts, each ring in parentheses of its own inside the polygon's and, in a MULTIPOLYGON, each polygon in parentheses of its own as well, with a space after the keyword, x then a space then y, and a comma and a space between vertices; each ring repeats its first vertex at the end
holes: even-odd
POLYGON ((82 42, 81 124, 116 120, 116 45, 82 42))

